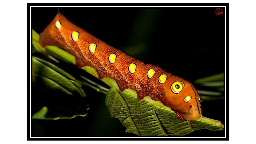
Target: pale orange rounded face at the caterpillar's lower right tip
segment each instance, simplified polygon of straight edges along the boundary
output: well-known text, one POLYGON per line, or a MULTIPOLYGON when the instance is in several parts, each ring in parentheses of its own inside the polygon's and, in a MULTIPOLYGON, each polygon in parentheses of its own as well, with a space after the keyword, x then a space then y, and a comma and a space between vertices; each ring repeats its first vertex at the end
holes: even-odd
POLYGON ((184 115, 186 120, 197 120, 201 117, 202 110, 200 106, 190 108, 184 115))

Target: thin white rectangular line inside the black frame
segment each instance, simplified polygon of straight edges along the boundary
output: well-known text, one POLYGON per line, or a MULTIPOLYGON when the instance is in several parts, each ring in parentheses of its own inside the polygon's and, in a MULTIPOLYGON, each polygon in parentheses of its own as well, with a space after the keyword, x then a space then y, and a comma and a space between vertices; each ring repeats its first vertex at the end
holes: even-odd
MULTIPOLYGON (((86 7, 140 7, 140 8, 143 8, 143 7, 225 7, 225 78, 226 78, 226 6, 30 6, 30 88, 31 88, 31 81, 32 81, 32 76, 31 76, 31 58, 32 58, 32 23, 31 23, 31 8, 37 8, 37 7, 59 7, 59 8, 62 8, 62 7, 83 7, 83 8, 86 8, 86 7)), ((226 124, 226 80, 225 80, 225 124, 226 124)), ((30 90, 30 138, 226 138, 226 128, 224 128, 225 130, 225 136, 224 137, 183 137, 183 136, 180 136, 180 137, 173 137, 173 136, 170 136, 170 137, 154 137, 154 136, 136 136, 136 137, 32 137, 32 106, 31 106, 31 90, 30 90)))

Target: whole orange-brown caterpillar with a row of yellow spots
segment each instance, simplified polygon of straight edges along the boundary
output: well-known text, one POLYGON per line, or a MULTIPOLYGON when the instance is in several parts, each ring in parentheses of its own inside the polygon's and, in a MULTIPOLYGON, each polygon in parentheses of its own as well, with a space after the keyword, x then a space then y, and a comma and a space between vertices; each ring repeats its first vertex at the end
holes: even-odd
POLYGON ((64 48, 75 56, 79 68, 95 68, 99 79, 114 79, 122 92, 127 88, 135 90, 139 100, 150 96, 171 108, 183 120, 201 117, 199 94, 190 82, 113 48, 59 12, 40 33, 39 43, 42 47, 64 48))

